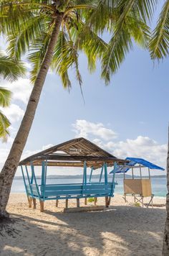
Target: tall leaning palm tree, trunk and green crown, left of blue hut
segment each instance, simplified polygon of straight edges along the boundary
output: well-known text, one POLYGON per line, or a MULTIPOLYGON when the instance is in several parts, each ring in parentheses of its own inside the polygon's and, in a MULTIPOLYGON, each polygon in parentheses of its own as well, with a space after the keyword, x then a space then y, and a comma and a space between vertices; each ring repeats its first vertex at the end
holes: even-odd
POLYGON ((97 57, 107 47, 94 29, 85 25, 87 10, 90 12, 96 6, 97 1, 89 0, 0 1, 0 29, 7 36, 8 51, 16 60, 29 52, 34 83, 21 126, 0 173, 0 216, 9 216, 6 204, 11 183, 32 127, 49 67, 62 78, 63 86, 70 88, 68 69, 73 66, 81 87, 78 51, 84 51, 89 68, 93 70, 97 57))

